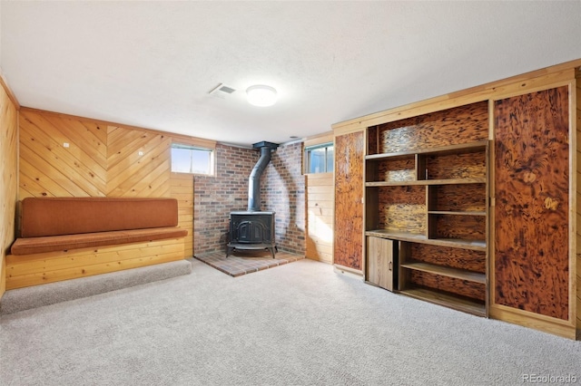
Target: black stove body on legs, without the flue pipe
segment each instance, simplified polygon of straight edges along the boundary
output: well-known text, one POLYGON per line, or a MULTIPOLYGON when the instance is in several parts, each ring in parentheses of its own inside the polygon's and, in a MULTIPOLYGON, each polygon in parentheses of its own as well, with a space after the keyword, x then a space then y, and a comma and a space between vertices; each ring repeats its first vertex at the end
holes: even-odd
POLYGON ((230 242, 226 246, 226 257, 235 249, 268 249, 274 258, 278 252, 274 239, 274 212, 231 212, 230 242))

